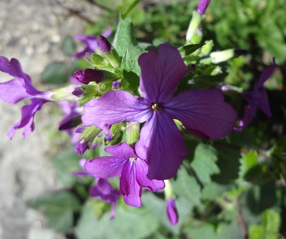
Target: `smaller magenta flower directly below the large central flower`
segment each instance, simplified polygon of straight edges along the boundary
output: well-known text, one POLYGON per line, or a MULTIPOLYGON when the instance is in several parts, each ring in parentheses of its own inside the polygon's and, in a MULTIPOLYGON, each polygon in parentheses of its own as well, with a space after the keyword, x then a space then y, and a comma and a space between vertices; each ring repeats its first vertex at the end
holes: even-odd
POLYGON ((163 181, 149 180, 146 177, 147 163, 138 158, 134 149, 125 142, 106 147, 104 150, 112 156, 88 160, 85 169, 94 177, 111 178, 121 175, 119 188, 126 204, 141 206, 142 187, 152 192, 165 187, 163 181))

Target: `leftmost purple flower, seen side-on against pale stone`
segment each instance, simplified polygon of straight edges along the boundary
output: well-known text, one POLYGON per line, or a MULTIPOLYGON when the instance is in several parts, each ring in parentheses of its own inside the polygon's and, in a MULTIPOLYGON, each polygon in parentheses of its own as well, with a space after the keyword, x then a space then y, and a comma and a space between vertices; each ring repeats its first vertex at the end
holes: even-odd
POLYGON ((8 82, 0 83, 0 99, 10 104, 16 104, 26 97, 31 98, 31 103, 22 107, 21 120, 14 124, 8 133, 8 136, 12 139, 16 129, 23 128, 23 138, 25 138, 26 135, 34 131, 34 115, 36 111, 40 110, 44 103, 54 101, 51 98, 54 92, 36 90, 31 83, 31 78, 23 72, 20 62, 15 58, 12 58, 9 62, 6 57, 0 57, 0 71, 14 77, 14 79, 8 82))

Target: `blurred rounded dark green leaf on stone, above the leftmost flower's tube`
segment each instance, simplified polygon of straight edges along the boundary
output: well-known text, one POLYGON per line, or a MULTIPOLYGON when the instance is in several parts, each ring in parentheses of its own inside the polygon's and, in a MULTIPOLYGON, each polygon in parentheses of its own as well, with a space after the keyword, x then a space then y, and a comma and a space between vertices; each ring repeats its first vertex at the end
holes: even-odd
POLYGON ((65 62, 53 62, 41 73, 42 80, 47 84, 64 84, 67 82, 65 62))

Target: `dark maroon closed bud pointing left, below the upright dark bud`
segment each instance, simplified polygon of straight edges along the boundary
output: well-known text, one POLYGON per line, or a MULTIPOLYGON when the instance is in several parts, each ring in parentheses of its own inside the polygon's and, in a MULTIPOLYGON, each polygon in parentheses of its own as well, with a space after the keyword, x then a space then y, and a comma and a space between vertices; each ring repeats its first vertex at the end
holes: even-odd
POLYGON ((103 80, 103 73, 101 70, 86 68, 74 73, 75 79, 77 79, 82 84, 88 84, 95 81, 96 83, 103 80))

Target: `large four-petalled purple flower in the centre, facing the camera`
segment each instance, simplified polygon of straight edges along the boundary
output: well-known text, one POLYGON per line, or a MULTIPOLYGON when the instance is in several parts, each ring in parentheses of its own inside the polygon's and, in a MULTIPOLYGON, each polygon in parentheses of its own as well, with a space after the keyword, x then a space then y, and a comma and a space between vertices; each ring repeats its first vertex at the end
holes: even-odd
POLYGON ((85 126, 95 125, 107 134, 112 124, 123 121, 147 121, 136 144, 140 159, 148 162, 149 179, 173 177, 183 156, 188 155, 183 135, 174 123, 178 119, 196 135, 219 139, 233 129, 236 111, 219 89, 187 90, 173 96, 180 79, 189 71, 177 48, 168 44, 138 59, 143 97, 121 90, 109 91, 83 105, 85 126))

